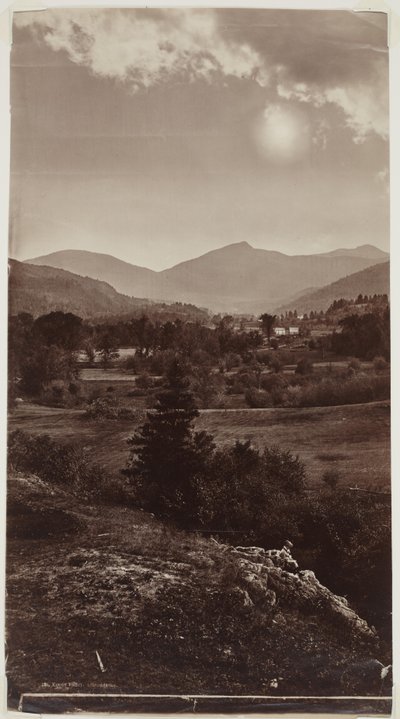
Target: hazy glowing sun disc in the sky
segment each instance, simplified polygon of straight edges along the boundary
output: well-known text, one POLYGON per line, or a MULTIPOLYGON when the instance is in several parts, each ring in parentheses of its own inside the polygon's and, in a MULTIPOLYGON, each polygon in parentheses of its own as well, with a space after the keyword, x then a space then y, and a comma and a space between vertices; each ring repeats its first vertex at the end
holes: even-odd
POLYGON ((255 139, 260 151, 271 161, 298 162, 310 148, 308 118, 300 110, 269 105, 256 122, 255 139))

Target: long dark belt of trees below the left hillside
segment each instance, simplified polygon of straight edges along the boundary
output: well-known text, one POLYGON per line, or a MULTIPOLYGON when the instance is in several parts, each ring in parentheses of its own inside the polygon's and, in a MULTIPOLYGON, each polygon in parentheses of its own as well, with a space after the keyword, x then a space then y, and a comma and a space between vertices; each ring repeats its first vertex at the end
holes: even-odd
MULTIPOLYGON (((230 316, 217 318, 209 327, 199 321, 152 321, 147 315, 115 324, 90 324, 72 313, 51 312, 37 319, 21 313, 9 320, 10 379, 13 383, 18 378, 22 391, 36 395, 53 380, 76 380, 78 350, 86 353, 89 362, 100 356, 102 365, 109 367, 118 358, 119 347, 134 347, 134 369, 154 365, 162 374, 176 352, 195 364, 218 366, 232 355, 241 361, 261 344, 257 331, 236 332, 230 316)), ((204 383, 200 373, 199 387, 204 383)))

